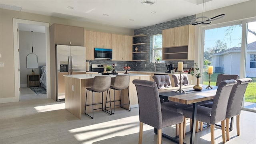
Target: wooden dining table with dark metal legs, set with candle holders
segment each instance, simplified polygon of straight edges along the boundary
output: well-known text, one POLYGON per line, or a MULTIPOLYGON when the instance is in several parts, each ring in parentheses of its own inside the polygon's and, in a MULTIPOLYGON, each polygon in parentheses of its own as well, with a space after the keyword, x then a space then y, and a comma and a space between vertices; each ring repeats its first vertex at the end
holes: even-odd
MULTIPOLYGON (((194 85, 193 85, 194 86, 194 85)), ((207 100, 212 100, 216 94, 218 86, 212 86, 213 88, 206 88, 207 85, 201 85, 202 90, 195 91, 193 89, 193 86, 182 86, 182 89, 185 91, 175 92, 178 90, 178 87, 174 88, 164 88, 164 89, 158 89, 159 97, 173 101, 173 102, 179 102, 182 104, 192 104, 193 105, 193 114, 192 114, 192 126, 191 126, 191 132, 190 132, 190 144, 194 144, 195 142, 195 134, 196 134, 196 113, 197 113, 197 106, 200 102, 204 102, 207 100)), ((163 137, 170 138, 170 136, 166 134, 162 134, 163 137)), ((174 140, 175 141, 175 140, 174 140)), ((175 141, 177 142, 177 141, 175 141)))

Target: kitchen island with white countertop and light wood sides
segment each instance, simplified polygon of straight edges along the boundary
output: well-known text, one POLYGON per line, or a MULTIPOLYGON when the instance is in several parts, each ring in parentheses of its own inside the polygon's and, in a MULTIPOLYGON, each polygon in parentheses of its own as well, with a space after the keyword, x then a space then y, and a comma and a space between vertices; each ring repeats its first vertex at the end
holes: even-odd
MULTIPOLYGON (((118 74, 118 75, 126 75, 126 74, 118 74)), ((132 80, 140 79, 140 80, 149 80, 150 75, 148 74, 128 74, 130 75, 130 85, 129 85, 129 95, 130 95, 130 105, 131 108, 138 107, 138 97, 137 91, 134 84, 132 84, 132 80)), ((86 88, 92 86, 92 82, 95 76, 103 76, 102 74, 74 74, 74 75, 64 75, 65 77, 65 109, 70 113, 74 114, 76 117, 81 119, 81 114, 84 114, 84 106, 85 106, 85 97, 86 97, 86 88)), ((111 85, 114 83, 114 79, 116 75, 110 74, 111 76, 111 85)), ((120 92, 118 90, 115 91, 116 98, 119 99, 120 92)), ((106 92, 103 93, 103 100, 106 100, 106 92)), ((114 91, 110 90, 111 100, 114 99, 114 91)), ((88 102, 92 102, 92 92, 88 92, 87 96, 88 102)), ((94 103, 98 103, 102 101, 101 93, 94 94, 94 103)), ((122 90, 122 102, 127 103, 127 89, 122 90)), ((107 107, 109 104, 107 105, 107 107)), ((125 106, 123 106, 125 107, 125 106)), ((97 106, 94 106, 97 108, 97 106)), ((100 108, 100 106, 98 106, 100 108)), ((92 112, 91 106, 86 107, 86 112, 92 112)))

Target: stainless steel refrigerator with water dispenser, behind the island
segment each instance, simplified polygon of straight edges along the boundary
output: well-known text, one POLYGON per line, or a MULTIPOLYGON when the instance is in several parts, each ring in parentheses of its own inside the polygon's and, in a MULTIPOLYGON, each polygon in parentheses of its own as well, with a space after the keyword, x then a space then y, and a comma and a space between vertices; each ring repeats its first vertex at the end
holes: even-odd
POLYGON ((56 100, 65 99, 64 76, 86 74, 85 47, 56 45, 56 100))

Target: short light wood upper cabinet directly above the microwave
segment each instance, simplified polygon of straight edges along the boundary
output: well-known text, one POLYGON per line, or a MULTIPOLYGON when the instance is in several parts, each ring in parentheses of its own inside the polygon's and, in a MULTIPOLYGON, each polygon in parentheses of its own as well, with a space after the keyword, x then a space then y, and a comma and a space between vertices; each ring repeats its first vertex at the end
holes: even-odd
POLYGON ((111 34, 104 32, 94 32, 94 47, 111 49, 111 34))

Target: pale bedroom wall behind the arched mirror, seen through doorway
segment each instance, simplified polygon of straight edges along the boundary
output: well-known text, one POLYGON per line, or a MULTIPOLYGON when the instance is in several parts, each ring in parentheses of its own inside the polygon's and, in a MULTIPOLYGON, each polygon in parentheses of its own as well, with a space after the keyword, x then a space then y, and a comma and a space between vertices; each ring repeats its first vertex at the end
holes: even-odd
MULTIPOLYGON (((38 66, 46 65, 46 44, 45 33, 33 32, 33 53, 38 56, 38 66)), ((27 55, 32 53, 32 32, 19 31, 20 48, 20 87, 27 87, 27 74, 31 74, 32 69, 35 74, 39 74, 39 68, 26 68, 27 55)))

